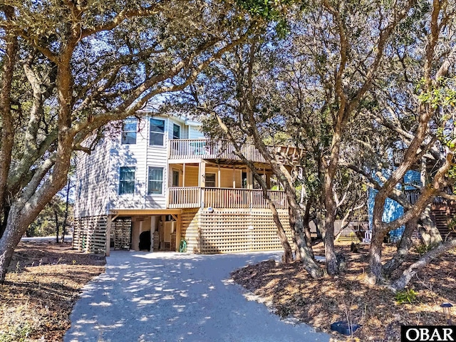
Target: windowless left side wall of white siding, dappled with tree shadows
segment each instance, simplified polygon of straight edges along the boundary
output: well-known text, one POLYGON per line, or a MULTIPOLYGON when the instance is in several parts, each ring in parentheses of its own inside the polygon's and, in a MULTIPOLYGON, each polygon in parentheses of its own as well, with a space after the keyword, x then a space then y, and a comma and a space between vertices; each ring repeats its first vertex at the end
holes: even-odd
POLYGON ((75 217, 93 217, 108 212, 109 152, 107 139, 100 141, 90 155, 78 152, 75 217))

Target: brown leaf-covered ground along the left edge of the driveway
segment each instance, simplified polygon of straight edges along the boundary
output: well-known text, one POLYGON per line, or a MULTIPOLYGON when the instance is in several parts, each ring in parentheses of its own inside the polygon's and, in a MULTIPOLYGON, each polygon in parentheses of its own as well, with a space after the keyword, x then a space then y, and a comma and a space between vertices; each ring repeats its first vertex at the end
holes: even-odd
POLYGON ((21 242, 0 285, 0 342, 61 341, 81 288, 104 264, 70 244, 21 242))

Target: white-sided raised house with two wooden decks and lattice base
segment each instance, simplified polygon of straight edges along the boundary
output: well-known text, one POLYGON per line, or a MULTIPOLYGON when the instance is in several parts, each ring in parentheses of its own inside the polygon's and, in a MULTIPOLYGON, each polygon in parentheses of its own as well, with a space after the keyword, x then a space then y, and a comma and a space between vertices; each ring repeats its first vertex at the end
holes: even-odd
MULTIPOLYGON (((184 117, 123 121, 88 155, 78 155, 73 247, 194 253, 280 249, 276 225, 252 172, 233 146, 207 140, 201 124, 184 117)), ((295 147, 270 147, 297 157, 295 147)), ((271 187, 271 170, 253 145, 244 155, 271 187)), ((289 158, 287 158, 289 159, 289 158)), ((275 186, 277 187, 277 185, 275 186)), ((289 232, 288 204, 269 190, 289 232)))

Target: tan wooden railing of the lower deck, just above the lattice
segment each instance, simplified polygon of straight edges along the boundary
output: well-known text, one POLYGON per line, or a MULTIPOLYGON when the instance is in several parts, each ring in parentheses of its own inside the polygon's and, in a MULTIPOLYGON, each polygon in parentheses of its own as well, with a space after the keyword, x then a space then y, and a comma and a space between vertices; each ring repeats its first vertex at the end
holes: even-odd
MULTIPOLYGON (((269 204, 261 190, 219 187, 170 187, 170 209, 213 207, 224 209, 267 209, 269 204)), ((283 191, 268 190, 269 198, 277 209, 288 208, 283 191)))

